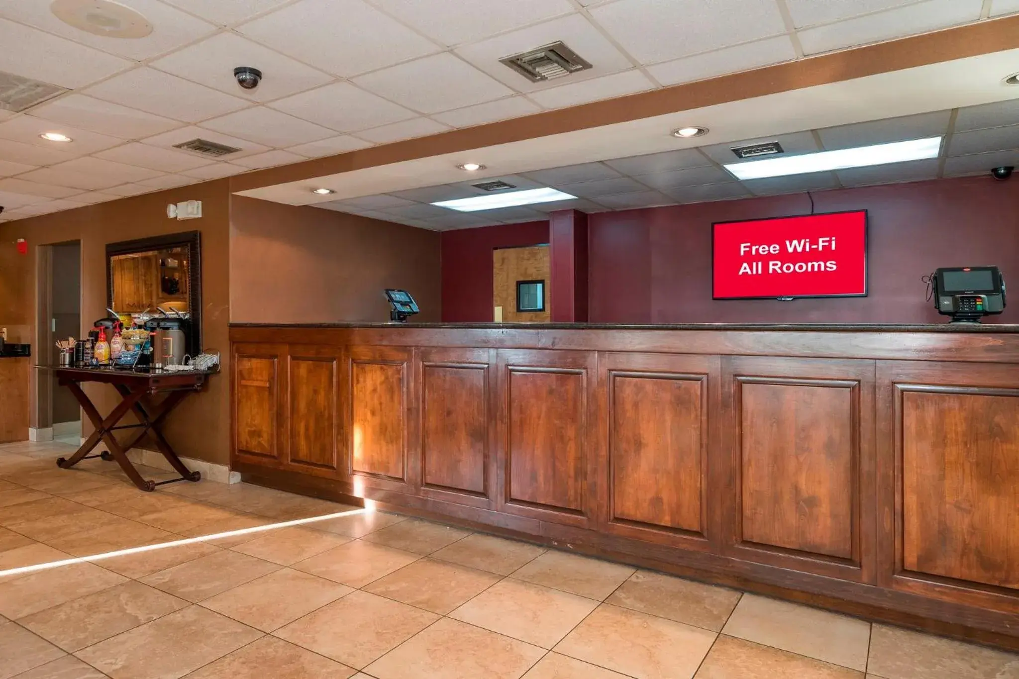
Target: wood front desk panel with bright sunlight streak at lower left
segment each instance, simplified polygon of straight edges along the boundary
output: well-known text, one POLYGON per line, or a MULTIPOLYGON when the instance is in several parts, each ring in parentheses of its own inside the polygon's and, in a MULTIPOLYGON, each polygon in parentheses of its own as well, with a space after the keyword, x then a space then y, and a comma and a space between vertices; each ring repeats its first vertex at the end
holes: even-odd
POLYGON ((351 347, 351 471, 410 483, 413 351, 351 347))

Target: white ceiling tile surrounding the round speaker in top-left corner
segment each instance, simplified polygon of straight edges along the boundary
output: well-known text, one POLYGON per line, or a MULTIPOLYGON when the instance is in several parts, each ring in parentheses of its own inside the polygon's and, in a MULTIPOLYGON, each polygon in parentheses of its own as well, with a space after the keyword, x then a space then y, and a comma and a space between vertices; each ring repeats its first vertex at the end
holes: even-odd
POLYGON ((151 59, 198 40, 216 30, 214 25, 158 0, 131 0, 131 9, 139 11, 155 30, 145 38, 107 38, 94 36, 64 23, 50 11, 48 2, 0 0, 0 14, 128 59, 151 59))

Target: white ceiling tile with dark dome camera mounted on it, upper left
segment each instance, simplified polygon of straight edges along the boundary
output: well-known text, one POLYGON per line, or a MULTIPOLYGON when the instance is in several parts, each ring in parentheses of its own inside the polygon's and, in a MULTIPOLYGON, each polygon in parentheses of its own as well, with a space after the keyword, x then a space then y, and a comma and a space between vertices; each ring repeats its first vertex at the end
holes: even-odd
POLYGON ((269 102, 330 82, 332 75, 285 57, 233 33, 221 33, 152 62, 154 68, 179 75, 253 102, 269 102), (245 90, 233 76, 236 66, 262 71, 262 82, 245 90))

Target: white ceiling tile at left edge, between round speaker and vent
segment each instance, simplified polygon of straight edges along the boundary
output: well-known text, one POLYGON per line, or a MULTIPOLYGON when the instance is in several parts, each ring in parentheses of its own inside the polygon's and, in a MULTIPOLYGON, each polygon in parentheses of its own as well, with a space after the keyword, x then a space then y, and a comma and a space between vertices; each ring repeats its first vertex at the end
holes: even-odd
MULTIPOLYGON (((49 8, 49 3, 8 0, 0 12, 7 13, 7 5, 49 8)), ((132 65, 125 59, 2 18, 0 45, 0 70, 61 88, 83 88, 132 65), (68 64, 73 67, 68 68, 68 64)))

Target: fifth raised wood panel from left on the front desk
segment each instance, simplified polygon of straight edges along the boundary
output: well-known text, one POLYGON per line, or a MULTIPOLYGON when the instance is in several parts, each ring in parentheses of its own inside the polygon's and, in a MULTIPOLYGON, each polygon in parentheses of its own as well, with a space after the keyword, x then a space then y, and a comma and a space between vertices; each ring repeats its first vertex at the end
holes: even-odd
POLYGON ((594 354, 499 351, 503 511, 588 524, 594 354))

